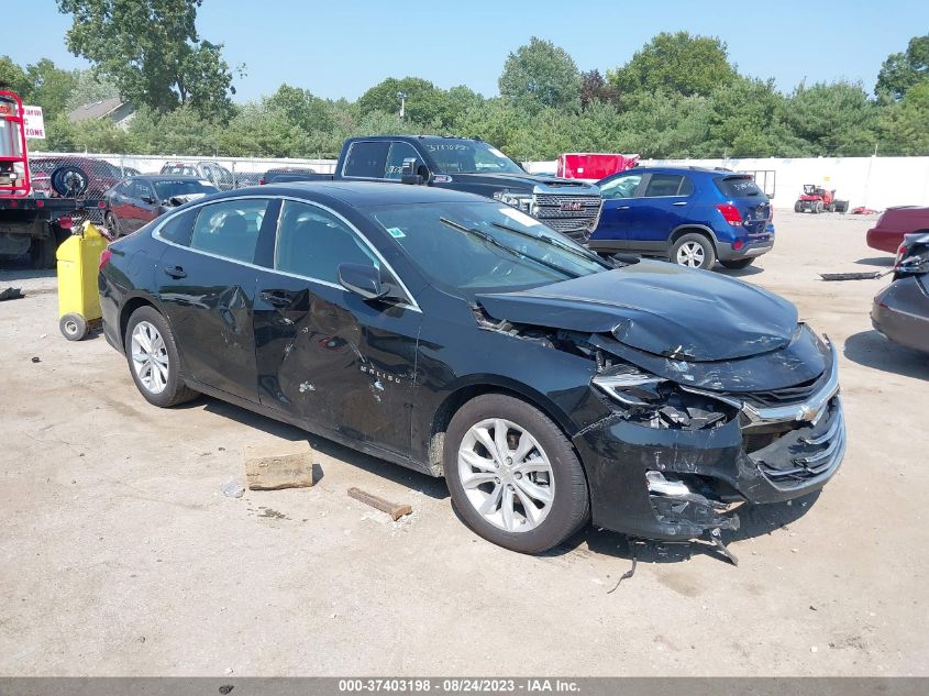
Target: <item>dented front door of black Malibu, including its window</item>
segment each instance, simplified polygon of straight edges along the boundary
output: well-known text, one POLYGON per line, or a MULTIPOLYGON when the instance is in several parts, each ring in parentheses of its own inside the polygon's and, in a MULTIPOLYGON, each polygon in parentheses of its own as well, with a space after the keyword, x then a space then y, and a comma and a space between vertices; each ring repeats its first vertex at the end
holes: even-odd
POLYGON ((335 212, 285 200, 274 268, 255 298, 259 397, 311 429, 408 456, 422 314, 412 300, 344 289, 345 263, 391 273, 335 212))

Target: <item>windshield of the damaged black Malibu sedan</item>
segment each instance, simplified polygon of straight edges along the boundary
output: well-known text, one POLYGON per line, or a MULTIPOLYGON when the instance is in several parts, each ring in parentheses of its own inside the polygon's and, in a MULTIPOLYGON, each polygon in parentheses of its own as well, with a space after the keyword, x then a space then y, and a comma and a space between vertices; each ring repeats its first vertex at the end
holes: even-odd
POLYGON ((433 285, 478 292, 558 283, 612 266, 524 212, 494 201, 365 209, 433 285))

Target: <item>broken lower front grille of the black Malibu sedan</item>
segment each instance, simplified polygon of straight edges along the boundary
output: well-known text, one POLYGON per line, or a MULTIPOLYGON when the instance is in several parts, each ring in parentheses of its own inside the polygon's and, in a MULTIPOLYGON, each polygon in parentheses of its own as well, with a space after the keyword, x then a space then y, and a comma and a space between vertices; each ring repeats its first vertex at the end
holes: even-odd
POLYGON ((743 446, 759 471, 781 489, 803 486, 841 461, 845 450, 845 424, 839 397, 817 424, 778 423, 745 428, 743 446), (759 446, 762 445, 762 446, 759 446))

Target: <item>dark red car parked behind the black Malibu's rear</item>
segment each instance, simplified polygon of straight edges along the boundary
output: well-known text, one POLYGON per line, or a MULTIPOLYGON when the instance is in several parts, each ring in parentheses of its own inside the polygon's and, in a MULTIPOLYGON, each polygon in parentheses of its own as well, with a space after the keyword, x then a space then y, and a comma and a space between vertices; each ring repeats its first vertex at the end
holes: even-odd
POLYGON ((133 176, 103 195, 112 239, 134 232, 158 216, 219 189, 192 176, 133 176))

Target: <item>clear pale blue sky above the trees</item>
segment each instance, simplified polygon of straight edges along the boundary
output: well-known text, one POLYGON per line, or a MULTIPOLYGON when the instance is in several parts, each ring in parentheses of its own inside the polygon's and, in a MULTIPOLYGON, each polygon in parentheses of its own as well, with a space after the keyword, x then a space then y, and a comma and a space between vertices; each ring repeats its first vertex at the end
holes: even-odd
MULTIPOLYGON (((773 77, 785 91, 804 77, 861 80, 871 91, 887 55, 929 32, 926 0, 818 3, 819 16, 815 7, 808 0, 204 0, 197 23, 204 38, 225 44, 231 65, 246 65, 236 101, 281 82, 356 99, 386 77, 407 75, 491 96, 507 55, 532 35, 565 48, 582 70, 606 73, 656 33, 677 30, 719 36, 742 73, 773 77)), ((58 14, 55 0, 14 0, 3 13, 7 26, 25 31, 3 32, 0 53, 21 64, 47 56, 86 67, 64 46, 70 18, 58 14)))

